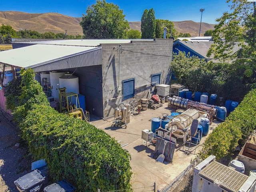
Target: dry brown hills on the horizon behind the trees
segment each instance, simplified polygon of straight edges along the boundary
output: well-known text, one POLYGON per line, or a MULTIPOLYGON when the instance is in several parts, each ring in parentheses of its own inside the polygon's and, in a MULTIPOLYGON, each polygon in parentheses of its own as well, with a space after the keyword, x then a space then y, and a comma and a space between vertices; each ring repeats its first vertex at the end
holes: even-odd
MULTIPOLYGON (((35 30, 39 33, 54 32, 70 35, 82 35, 80 21, 82 18, 74 18, 58 13, 25 13, 17 11, 0 11, 0 24, 10 25, 15 30, 35 30)), ((141 22, 129 22, 130 29, 140 31, 141 22)), ((174 28, 181 33, 190 33, 191 36, 199 35, 200 23, 194 21, 173 22, 174 28)), ((214 29, 214 24, 202 23, 201 34, 206 30, 214 29)))

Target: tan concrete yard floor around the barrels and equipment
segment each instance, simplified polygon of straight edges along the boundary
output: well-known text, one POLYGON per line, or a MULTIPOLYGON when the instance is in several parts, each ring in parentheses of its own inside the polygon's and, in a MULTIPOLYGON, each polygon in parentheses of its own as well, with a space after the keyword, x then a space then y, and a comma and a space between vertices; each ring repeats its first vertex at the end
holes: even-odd
MULTIPOLYGON (((154 182, 156 182, 156 191, 162 190, 166 185, 168 185, 172 180, 176 178, 188 165, 192 159, 196 157, 194 151, 188 153, 183 148, 182 138, 177 140, 177 145, 174 151, 173 162, 164 163, 157 162, 153 158, 153 152, 155 146, 150 142, 142 140, 142 130, 151 130, 151 120, 152 118, 157 118, 162 116, 162 113, 171 114, 175 112, 175 109, 168 107, 168 103, 164 103, 162 107, 155 110, 148 109, 141 111, 141 114, 130 116, 130 123, 128 123, 127 128, 112 126, 114 118, 108 120, 93 120, 91 118, 91 123, 99 129, 104 130, 106 133, 110 134, 111 137, 120 141, 120 145, 124 149, 128 150, 131 154, 130 165, 132 167, 132 178, 131 184, 134 192, 141 192, 146 190, 154 189, 154 182)), ((219 122, 214 122, 210 125, 209 133, 216 128, 219 122)), ((204 140, 207 136, 203 136, 201 140, 204 140)), ((194 150, 195 146, 191 147, 194 150)), ((200 152, 201 146, 196 148, 196 152, 200 152)))

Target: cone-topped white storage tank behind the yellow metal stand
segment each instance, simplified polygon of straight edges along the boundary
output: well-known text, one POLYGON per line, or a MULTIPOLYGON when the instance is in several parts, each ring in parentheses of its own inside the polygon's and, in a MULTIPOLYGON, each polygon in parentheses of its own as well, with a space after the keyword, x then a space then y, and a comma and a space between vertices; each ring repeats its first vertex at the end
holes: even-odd
POLYGON ((66 92, 79 94, 78 76, 66 72, 59 78, 60 88, 66 87, 66 92))

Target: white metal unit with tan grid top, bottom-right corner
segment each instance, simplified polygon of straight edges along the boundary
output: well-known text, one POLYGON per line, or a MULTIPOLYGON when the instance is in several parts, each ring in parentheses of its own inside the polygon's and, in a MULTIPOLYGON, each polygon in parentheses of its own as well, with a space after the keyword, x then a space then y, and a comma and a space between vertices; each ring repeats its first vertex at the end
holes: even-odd
POLYGON ((192 192, 254 192, 256 174, 247 176, 211 155, 194 169, 192 192))

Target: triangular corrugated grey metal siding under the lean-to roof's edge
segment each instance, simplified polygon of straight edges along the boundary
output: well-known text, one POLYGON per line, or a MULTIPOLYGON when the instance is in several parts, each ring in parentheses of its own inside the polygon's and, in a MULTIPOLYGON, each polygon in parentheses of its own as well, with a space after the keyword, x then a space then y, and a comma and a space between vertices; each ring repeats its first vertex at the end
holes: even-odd
MULTIPOLYGON (((34 72, 62 70, 68 68, 102 65, 102 49, 92 50, 86 53, 71 56, 69 58, 32 67, 34 72)), ((28 68, 28 67, 27 67, 28 68)))

